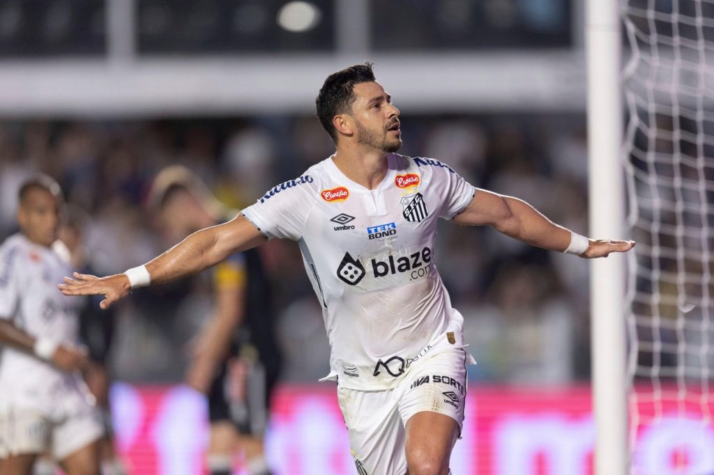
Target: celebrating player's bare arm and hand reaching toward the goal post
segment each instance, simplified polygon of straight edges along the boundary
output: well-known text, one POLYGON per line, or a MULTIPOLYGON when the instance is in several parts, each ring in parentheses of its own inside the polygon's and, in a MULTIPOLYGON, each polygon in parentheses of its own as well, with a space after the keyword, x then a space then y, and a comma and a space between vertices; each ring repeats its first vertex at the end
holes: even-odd
MULTIPOLYGON (((468 208, 454 218, 464 225, 493 226, 501 233, 527 244, 565 252, 573 233, 538 213, 533 206, 511 196, 478 190, 468 208)), ((610 252, 626 252, 634 241, 589 239, 580 257, 607 257, 610 252)))

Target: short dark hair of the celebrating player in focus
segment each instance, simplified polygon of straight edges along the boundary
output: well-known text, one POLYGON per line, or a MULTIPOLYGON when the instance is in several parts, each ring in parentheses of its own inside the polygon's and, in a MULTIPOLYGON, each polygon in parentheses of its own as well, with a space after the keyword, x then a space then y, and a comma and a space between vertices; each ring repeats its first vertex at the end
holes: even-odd
POLYGON ((315 99, 317 116, 332 141, 337 143, 337 131, 332 119, 337 114, 346 113, 355 100, 355 84, 375 81, 373 63, 356 64, 327 76, 315 99))

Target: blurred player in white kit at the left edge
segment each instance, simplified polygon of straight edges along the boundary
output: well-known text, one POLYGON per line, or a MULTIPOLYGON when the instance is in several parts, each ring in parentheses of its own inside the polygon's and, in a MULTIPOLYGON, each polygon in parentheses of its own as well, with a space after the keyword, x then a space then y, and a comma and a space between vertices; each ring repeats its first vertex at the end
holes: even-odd
POLYGON ((0 466, 29 475, 49 453, 69 475, 99 474, 99 414, 79 370, 88 363, 76 346, 79 308, 56 292, 71 269, 56 241, 59 185, 44 175, 19 190, 21 233, 0 246, 0 466))

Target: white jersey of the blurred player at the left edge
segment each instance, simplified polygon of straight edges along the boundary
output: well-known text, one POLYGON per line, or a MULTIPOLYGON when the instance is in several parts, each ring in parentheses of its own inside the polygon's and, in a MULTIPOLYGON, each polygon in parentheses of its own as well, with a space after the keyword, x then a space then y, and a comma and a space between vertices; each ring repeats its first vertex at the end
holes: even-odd
MULTIPOLYGON (((59 244, 59 243, 58 243, 59 244)), ((65 248, 66 249, 66 248, 65 248)), ((34 337, 76 344, 83 299, 57 289, 71 267, 58 246, 36 245, 24 235, 8 237, 0 246, 0 318, 34 337)), ((0 344, 0 399, 51 398, 79 374, 68 374, 32 354, 0 344)))

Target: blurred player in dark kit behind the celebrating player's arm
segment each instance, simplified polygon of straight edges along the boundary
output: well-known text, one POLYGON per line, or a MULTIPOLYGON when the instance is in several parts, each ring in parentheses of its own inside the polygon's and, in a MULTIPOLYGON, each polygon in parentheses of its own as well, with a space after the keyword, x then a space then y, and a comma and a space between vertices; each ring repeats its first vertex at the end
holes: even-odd
MULTIPOLYGON (((236 215, 178 165, 156 176, 149 205, 161 226, 179 237, 236 215)), ((186 382, 208 396, 208 469, 211 475, 231 474, 237 450, 245 455, 248 473, 268 475, 263 432, 281 357, 261 257, 257 250, 235 252, 204 277, 211 280, 215 306, 196 339, 186 382)))

